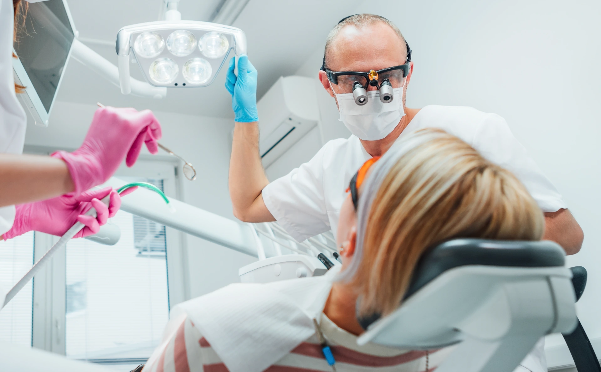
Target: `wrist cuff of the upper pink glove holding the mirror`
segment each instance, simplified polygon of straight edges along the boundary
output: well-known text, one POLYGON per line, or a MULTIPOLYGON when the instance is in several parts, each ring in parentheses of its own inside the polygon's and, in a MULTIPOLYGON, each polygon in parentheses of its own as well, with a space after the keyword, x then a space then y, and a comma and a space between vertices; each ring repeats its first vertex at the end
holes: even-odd
POLYGON ((71 179, 75 185, 75 191, 68 195, 79 195, 104 182, 102 166, 93 156, 79 154, 78 151, 68 153, 63 150, 56 151, 50 156, 63 159, 67 163, 67 168, 69 168, 71 179))

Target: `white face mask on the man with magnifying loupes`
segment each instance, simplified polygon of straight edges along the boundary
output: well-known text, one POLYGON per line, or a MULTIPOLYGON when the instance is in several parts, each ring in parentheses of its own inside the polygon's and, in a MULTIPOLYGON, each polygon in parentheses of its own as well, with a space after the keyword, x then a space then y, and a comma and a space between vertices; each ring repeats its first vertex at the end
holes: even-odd
POLYGON ((376 141, 388 136, 405 115, 403 87, 392 90, 394 99, 389 103, 380 101, 379 91, 368 91, 368 101, 363 106, 355 103, 352 93, 336 93, 340 121, 353 135, 364 141, 376 141))

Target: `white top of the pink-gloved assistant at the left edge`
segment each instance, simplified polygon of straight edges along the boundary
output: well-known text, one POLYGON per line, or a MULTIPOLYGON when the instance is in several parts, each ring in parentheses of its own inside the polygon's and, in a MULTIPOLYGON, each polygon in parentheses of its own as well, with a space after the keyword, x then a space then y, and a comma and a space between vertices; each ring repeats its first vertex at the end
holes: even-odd
MULTIPOLYGON (((13 18, 13 2, 0 0, 0 153, 20 154, 26 116, 14 93, 13 18)), ((13 221, 14 206, 0 207, 0 235, 10 230, 13 221)))

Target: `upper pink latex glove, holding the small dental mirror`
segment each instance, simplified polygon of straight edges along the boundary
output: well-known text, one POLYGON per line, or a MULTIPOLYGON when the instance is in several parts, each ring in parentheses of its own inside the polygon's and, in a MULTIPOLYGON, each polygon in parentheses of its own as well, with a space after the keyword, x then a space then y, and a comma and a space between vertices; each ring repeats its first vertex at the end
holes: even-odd
POLYGON ((56 151, 52 157, 67 163, 75 184, 75 194, 105 183, 123 159, 132 166, 146 144, 151 154, 158 152, 162 136, 159 121, 152 111, 133 108, 99 108, 94 114, 84 144, 72 153, 56 151))

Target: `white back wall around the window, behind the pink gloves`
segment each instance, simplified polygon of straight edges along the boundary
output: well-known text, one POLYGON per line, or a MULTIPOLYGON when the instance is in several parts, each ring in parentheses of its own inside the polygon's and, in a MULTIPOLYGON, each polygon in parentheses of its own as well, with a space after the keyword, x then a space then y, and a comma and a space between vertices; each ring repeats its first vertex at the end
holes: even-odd
MULTIPOLYGON (((90 126, 96 105, 56 102, 47 128, 28 125, 26 145, 76 148, 90 126)), ((191 162, 197 169, 195 181, 182 180, 183 201, 234 219, 228 193, 231 120, 154 112, 163 138, 160 142, 191 162)), ((29 120, 31 123, 31 120, 29 120)), ((142 150, 143 154, 148 151, 142 150)), ((162 150, 159 150, 162 151, 162 150)), ((160 153, 159 153, 160 154, 160 153)), ((186 235, 190 294, 200 296, 238 282, 238 269, 256 258, 186 235)))

